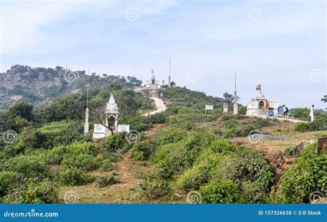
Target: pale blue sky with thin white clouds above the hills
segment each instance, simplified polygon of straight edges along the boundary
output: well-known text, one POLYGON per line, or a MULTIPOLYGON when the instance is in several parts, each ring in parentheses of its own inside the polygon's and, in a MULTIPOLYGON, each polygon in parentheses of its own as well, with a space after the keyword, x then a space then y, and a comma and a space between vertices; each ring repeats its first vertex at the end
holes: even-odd
POLYGON ((132 75, 239 103, 327 107, 326 1, 1 1, 0 72, 11 65, 132 75))

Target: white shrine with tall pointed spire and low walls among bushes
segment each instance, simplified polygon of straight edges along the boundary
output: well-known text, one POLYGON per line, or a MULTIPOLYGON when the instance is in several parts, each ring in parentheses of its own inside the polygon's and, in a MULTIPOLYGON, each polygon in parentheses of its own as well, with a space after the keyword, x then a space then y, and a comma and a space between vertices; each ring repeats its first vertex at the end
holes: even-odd
POLYGON ((119 112, 112 94, 110 94, 110 99, 104 113, 106 114, 106 125, 94 124, 93 139, 108 137, 112 132, 130 132, 130 125, 118 125, 119 112))

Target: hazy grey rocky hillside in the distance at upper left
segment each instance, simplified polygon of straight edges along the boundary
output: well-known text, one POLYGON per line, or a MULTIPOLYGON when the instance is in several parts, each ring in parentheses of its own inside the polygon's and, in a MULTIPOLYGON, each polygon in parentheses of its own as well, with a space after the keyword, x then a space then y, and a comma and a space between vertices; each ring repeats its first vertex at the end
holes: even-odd
POLYGON ((124 77, 85 71, 56 68, 31 68, 28 65, 13 65, 10 70, 0 73, 0 110, 12 103, 23 100, 29 103, 47 103, 59 95, 78 92, 86 88, 101 88, 113 82, 126 86, 139 86, 141 81, 135 77, 124 77))

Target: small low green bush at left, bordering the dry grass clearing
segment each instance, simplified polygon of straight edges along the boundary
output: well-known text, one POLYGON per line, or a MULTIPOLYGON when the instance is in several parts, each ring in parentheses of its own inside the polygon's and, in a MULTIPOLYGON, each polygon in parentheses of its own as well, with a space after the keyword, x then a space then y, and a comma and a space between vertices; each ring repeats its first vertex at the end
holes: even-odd
POLYGON ((77 168, 66 169, 59 176, 63 185, 83 185, 94 181, 90 174, 86 174, 83 170, 77 168))

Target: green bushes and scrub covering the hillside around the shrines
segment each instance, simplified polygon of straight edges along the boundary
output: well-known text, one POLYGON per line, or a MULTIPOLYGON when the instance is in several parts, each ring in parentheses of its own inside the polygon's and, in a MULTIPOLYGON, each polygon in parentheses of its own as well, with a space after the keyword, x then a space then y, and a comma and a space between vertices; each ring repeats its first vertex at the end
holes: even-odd
MULTIPOLYGON (((285 150, 279 150, 278 157, 292 165, 277 176, 275 157, 267 155, 269 163, 264 156, 269 150, 258 151, 258 146, 240 138, 254 130, 286 132, 282 128, 286 123, 223 114, 222 103, 232 101, 232 95, 208 97, 186 88, 165 90, 166 112, 143 116, 141 110, 152 109, 152 101, 130 89, 140 82, 118 79, 103 88, 90 88, 88 134, 83 134, 83 89, 52 103, 18 102, 0 112, 1 130, 17 132, 12 143, 0 137, 0 203, 59 203, 59 188, 106 189, 130 179, 131 168, 137 178, 127 182, 132 188, 125 188, 132 192, 132 200, 141 203, 185 203, 190 191, 201 194, 201 203, 308 203, 311 192, 326 193, 327 157, 317 154, 317 143, 304 150, 295 143, 281 146, 285 150), (138 131, 136 143, 128 141, 126 132, 92 141, 92 124, 104 120, 111 93, 119 105, 119 123, 138 131), (205 113, 208 104, 215 110, 205 113), (121 164, 127 159, 128 167, 121 164)), ((55 88, 49 89, 48 97, 55 94, 55 88)), ((239 108, 240 113, 246 110, 239 108)), ((294 117, 307 118, 308 109, 291 111, 294 117)), ((326 119, 317 110, 313 123, 295 125, 296 134, 319 130, 307 133, 306 139, 326 137, 322 131, 327 130, 326 119)), ((294 132, 293 124, 286 127, 294 132)))

